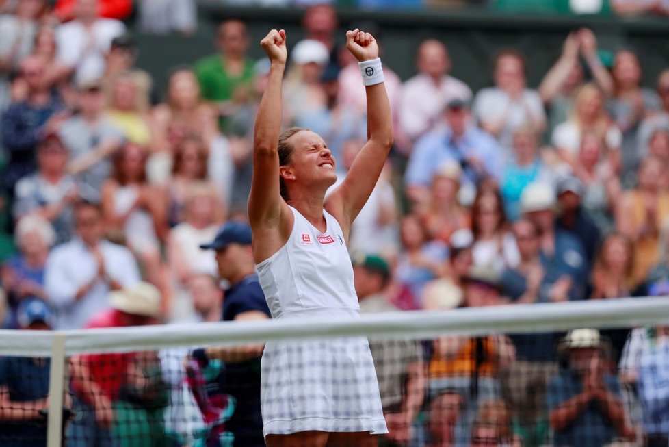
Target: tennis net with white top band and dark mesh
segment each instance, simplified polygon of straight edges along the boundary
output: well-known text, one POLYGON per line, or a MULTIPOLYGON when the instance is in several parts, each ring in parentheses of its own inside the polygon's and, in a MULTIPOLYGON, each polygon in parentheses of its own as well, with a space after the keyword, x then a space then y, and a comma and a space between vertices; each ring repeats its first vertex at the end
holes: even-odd
POLYGON ((665 300, 70 331, 62 399, 55 333, 4 331, 0 445, 666 446, 665 300))

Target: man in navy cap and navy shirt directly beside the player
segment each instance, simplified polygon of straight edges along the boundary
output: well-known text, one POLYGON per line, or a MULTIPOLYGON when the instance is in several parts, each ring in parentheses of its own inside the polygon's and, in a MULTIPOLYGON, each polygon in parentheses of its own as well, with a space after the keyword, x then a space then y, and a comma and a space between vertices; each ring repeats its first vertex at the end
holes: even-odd
MULTIPOLYGON (((251 227, 230 221, 216 233, 213 241, 200 246, 215 250, 220 279, 228 282, 223 300, 224 321, 265 320, 271 318, 265 294, 258 281, 251 251, 251 227)), ((265 446, 263 418, 260 411, 260 359, 263 345, 207 348, 196 350, 193 357, 206 363, 216 358, 225 362, 222 377, 224 392, 235 398, 235 413, 226 422, 236 446, 265 446)))

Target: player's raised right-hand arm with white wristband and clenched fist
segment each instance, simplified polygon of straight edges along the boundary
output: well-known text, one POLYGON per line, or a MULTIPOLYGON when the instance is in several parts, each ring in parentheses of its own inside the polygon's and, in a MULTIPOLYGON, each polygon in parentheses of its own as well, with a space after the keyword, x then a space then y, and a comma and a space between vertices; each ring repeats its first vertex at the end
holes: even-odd
POLYGON ((345 227, 345 232, 369 199, 393 145, 393 118, 382 72, 378 77, 381 62, 376 40, 371 34, 356 29, 346 33, 346 47, 360 62, 367 84, 368 140, 344 181, 326 199, 326 208, 345 227), (376 81, 378 84, 369 85, 376 81))

